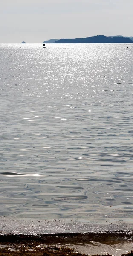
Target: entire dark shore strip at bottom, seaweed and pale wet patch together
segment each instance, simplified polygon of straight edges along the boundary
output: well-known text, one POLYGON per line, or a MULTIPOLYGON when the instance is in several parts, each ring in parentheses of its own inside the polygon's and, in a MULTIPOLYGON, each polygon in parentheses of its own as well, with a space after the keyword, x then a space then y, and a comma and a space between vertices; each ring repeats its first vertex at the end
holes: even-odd
POLYGON ((0 256, 29 254, 32 256, 81 256, 83 254, 84 256, 133 256, 133 230, 0 236, 0 256))

